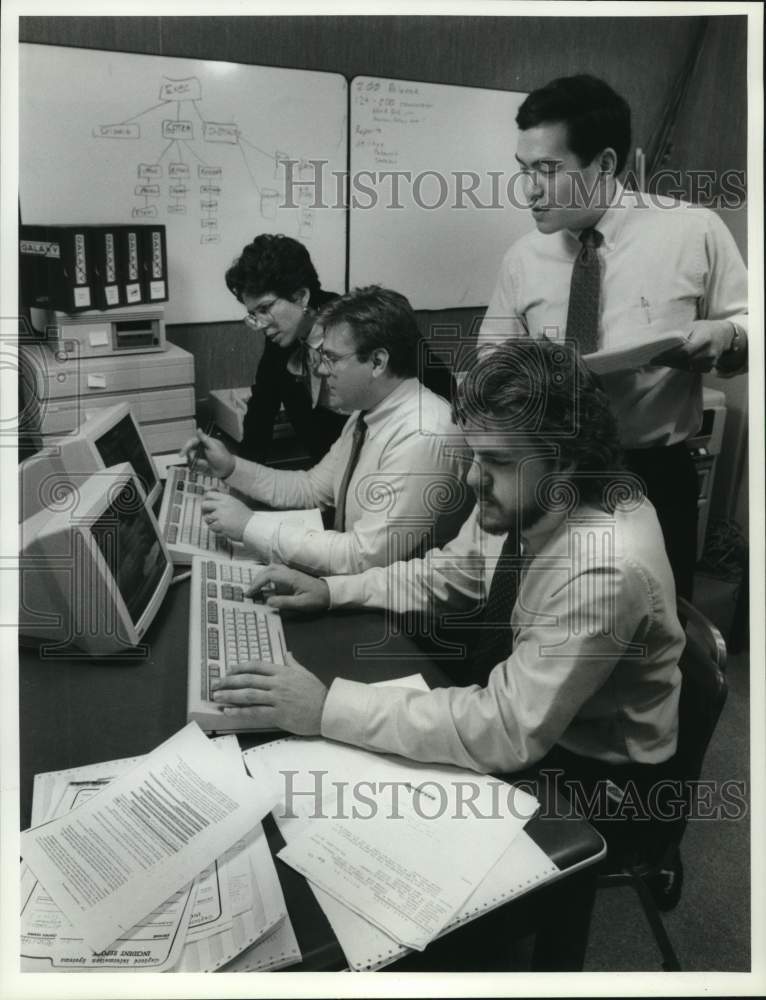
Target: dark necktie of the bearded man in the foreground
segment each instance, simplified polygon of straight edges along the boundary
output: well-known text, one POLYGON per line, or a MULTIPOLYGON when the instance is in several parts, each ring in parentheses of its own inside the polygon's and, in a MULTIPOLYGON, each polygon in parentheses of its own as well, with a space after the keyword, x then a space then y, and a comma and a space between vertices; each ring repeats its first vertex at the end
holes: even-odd
POLYGON ((492 668, 511 655, 511 612, 519 592, 522 571, 528 562, 528 558, 520 557, 518 537, 510 532, 500 550, 484 609, 481 636, 471 661, 475 684, 485 685, 492 668))

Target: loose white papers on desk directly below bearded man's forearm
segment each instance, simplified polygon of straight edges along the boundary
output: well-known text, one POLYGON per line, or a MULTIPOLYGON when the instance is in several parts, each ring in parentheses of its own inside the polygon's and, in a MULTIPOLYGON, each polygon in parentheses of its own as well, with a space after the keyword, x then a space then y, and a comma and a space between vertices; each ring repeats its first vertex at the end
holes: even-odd
POLYGON ((422 950, 560 874, 523 832, 537 801, 496 779, 319 738, 243 756, 281 775, 278 856, 308 880, 352 969, 422 950))

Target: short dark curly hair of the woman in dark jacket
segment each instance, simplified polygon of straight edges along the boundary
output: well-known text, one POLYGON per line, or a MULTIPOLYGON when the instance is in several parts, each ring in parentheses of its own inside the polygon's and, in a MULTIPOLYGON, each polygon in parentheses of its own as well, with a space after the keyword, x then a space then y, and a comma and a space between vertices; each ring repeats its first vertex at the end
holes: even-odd
POLYGON ((289 299, 308 288, 309 304, 319 304, 319 277, 309 252, 289 236, 256 236, 226 272, 226 285, 240 302, 245 295, 255 298, 267 292, 289 299))

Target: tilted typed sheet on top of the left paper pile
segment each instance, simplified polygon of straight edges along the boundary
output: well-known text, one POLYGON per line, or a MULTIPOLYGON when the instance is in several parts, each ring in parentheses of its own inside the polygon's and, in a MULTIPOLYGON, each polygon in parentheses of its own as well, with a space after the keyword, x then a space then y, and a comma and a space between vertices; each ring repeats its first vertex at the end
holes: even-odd
POLYGON ((21 836, 74 933, 103 951, 251 831, 273 794, 190 723, 79 808, 21 836))

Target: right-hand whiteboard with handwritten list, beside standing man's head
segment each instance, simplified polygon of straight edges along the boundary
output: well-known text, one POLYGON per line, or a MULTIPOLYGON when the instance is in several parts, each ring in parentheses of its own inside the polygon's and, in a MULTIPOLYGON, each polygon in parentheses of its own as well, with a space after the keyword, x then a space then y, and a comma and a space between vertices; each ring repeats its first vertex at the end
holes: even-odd
POLYGON ((525 97, 351 81, 351 285, 395 288, 416 309, 488 304, 503 254, 534 227, 514 160, 525 97))

